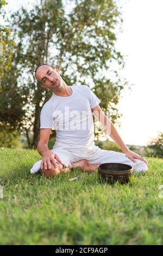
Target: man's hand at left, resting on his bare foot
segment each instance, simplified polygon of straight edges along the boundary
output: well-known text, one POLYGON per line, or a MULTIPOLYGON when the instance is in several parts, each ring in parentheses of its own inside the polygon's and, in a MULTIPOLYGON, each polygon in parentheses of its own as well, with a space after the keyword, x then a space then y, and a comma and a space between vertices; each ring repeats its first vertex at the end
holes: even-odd
POLYGON ((57 167, 57 163, 55 162, 55 159, 61 163, 61 160, 59 159, 58 155, 53 153, 52 151, 45 151, 44 153, 42 153, 42 162, 41 162, 41 170, 42 169, 51 169, 52 165, 51 162, 54 164, 55 167, 57 167))

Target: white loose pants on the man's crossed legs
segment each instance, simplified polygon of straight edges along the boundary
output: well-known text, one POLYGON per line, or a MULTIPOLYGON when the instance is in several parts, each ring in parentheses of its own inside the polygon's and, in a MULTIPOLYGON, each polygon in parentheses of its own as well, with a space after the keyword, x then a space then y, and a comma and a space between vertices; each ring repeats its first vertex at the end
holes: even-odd
MULTIPOLYGON (((135 159, 136 163, 133 163, 126 154, 121 152, 115 152, 111 150, 102 150, 96 146, 93 150, 66 150, 65 148, 53 148, 52 152, 56 153, 64 166, 72 168, 72 163, 75 163, 81 159, 86 159, 89 164, 103 164, 103 163, 123 163, 133 166, 134 172, 145 172, 148 170, 148 166, 140 159, 135 159)), ((30 169, 30 172, 34 174, 40 170, 41 160, 37 161, 30 169)), ((58 162, 56 160, 56 162, 58 162)))

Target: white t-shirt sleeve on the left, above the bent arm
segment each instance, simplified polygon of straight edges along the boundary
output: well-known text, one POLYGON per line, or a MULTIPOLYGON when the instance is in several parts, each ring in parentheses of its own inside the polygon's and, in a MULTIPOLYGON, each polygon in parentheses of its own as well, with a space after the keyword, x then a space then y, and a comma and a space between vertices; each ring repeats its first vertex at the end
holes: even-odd
POLYGON ((40 129, 42 129, 42 128, 52 129, 52 127, 53 127, 53 117, 51 115, 51 112, 48 111, 48 109, 45 105, 41 109, 40 129))

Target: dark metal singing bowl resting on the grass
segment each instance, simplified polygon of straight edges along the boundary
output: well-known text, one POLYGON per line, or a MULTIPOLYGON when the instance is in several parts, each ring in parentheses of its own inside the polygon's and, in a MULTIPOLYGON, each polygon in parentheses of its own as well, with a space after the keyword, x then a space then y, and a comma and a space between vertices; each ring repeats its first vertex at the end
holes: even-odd
POLYGON ((102 181, 108 183, 127 183, 133 175, 133 167, 121 163, 104 163, 98 165, 98 175, 102 181))

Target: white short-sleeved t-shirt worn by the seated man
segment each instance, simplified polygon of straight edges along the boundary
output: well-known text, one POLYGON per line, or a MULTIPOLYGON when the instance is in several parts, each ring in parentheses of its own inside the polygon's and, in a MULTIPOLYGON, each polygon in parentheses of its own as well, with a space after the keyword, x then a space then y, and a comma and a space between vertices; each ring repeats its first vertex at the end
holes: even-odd
POLYGON ((69 97, 52 97, 43 105, 40 115, 40 129, 54 128, 56 141, 53 148, 92 150, 94 124, 91 109, 101 100, 86 85, 73 85, 69 97))

